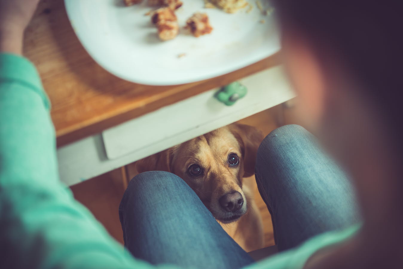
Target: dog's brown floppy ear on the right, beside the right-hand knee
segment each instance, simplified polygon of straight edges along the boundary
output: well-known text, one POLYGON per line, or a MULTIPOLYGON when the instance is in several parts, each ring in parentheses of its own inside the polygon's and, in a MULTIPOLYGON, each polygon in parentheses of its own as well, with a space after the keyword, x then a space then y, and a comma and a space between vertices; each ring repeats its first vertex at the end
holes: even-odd
POLYGON ((228 127, 241 146, 243 176, 245 178, 253 176, 255 174, 256 154, 264 139, 263 134, 257 128, 245 124, 233 123, 228 127))

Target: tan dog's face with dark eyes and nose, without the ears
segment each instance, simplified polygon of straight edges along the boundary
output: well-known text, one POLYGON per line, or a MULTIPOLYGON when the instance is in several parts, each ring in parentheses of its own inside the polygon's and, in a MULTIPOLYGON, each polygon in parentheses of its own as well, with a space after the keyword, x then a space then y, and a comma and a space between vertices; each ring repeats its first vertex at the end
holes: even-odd
POLYGON ((228 128, 182 143, 174 151, 172 173, 185 180, 216 219, 227 223, 246 213, 241 147, 228 128))

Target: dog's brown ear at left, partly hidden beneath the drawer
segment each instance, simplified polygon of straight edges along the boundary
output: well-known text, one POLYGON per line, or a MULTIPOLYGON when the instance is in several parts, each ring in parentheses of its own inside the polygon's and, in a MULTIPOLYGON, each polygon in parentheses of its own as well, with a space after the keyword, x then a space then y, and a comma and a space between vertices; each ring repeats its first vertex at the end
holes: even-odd
POLYGON ((171 163, 174 149, 169 148, 144 159, 136 161, 137 172, 166 171, 171 172, 171 163))

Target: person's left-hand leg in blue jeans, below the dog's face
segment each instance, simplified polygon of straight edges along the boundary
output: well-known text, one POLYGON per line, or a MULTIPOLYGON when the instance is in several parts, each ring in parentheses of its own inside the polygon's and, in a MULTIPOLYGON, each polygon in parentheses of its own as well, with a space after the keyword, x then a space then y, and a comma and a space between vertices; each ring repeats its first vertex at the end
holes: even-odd
POLYGON ((119 207, 125 246, 152 264, 240 268, 252 258, 222 229, 195 192, 161 171, 135 176, 119 207))

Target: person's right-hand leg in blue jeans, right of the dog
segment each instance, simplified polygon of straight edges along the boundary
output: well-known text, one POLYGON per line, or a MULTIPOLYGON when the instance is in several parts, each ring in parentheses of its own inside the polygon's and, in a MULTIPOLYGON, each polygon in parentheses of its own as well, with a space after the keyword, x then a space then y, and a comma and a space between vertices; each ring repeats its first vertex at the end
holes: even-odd
POLYGON ((279 250, 359 220, 347 176, 301 126, 280 127, 264 139, 256 181, 272 215, 279 250))

